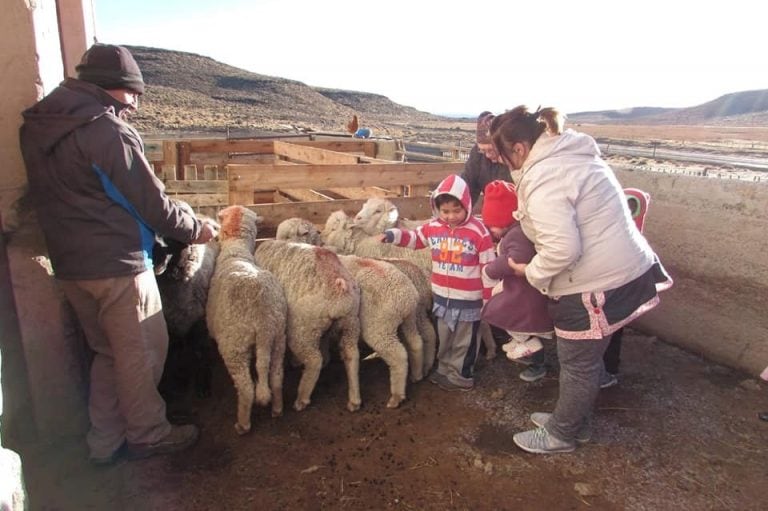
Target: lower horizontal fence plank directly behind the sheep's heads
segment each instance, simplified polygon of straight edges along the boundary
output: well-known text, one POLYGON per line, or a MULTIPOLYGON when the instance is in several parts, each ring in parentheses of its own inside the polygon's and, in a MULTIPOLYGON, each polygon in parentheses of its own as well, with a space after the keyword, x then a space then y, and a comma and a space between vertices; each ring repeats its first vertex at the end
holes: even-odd
MULTIPOLYGON (((425 197, 393 197, 390 199, 398 208, 403 218, 425 220, 432 217, 429 199, 425 197)), ((283 220, 291 217, 301 217, 316 225, 325 225, 328 216, 343 209, 354 216, 363 207, 365 200, 336 200, 324 202, 292 202, 286 204, 251 204, 246 205, 264 218, 263 225, 275 228, 283 220)))

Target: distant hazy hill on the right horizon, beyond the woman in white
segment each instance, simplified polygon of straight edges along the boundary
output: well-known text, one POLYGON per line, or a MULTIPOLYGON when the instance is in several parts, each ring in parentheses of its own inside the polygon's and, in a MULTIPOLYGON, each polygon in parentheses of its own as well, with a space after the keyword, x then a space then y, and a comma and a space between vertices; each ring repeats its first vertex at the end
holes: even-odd
POLYGON ((765 126, 768 90, 726 94, 689 108, 632 108, 569 114, 573 123, 765 126))

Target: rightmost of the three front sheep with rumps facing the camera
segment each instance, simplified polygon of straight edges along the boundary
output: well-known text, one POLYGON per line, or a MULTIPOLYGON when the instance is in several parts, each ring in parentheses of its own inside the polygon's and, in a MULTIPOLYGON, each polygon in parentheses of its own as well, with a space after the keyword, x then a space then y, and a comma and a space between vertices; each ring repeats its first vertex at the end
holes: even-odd
POLYGON ((409 368, 411 381, 424 377, 424 343, 416 324, 419 293, 391 263, 354 255, 340 255, 339 260, 360 286, 362 338, 389 366, 387 408, 397 408, 405 399, 409 368))

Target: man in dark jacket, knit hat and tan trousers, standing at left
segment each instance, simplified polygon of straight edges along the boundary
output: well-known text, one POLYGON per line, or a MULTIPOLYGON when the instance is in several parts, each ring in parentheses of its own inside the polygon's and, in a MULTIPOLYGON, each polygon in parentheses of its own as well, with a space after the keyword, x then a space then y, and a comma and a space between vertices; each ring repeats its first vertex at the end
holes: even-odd
POLYGON ((95 356, 87 441, 110 463, 192 445, 157 390, 168 333, 152 271, 155 233, 205 243, 217 226, 175 206, 125 117, 144 80, 131 53, 96 44, 68 78, 26 110, 20 130, 29 191, 60 288, 95 356))

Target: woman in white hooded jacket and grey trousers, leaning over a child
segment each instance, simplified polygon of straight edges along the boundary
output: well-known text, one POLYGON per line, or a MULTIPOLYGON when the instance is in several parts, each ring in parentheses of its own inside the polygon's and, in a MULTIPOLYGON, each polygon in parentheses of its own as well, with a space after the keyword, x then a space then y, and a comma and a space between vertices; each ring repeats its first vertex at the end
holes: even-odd
POLYGON ((514 441, 533 453, 570 452, 589 439, 603 352, 611 334, 659 303, 671 286, 632 220, 616 176, 592 137, 563 131, 554 108, 525 106, 496 117, 490 134, 517 183, 515 216, 536 246, 510 266, 549 297, 560 390, 552 413, 514 441))

